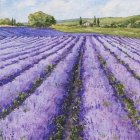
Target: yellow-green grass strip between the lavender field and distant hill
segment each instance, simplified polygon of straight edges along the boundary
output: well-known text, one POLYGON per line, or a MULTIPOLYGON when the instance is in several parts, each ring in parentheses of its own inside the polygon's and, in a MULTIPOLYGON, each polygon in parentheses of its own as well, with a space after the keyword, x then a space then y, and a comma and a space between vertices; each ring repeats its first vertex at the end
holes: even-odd
POLYGON ((52 28, 69 33, 99 33, 117 35, 123 37, 140 38, 140 29, 138 28, 101 28, 101 27, 79 27, 53 25, 52 28))

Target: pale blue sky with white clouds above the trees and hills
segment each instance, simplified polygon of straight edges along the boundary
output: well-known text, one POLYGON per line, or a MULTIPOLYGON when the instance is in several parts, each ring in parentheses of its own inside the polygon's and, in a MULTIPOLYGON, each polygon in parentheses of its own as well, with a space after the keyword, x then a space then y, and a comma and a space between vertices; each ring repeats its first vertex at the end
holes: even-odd
POLYGON ((140 14, 140 0, 0 0, 0 18, 27 22, 43 11, 57 20, 81 17, 126 17, 140 14))

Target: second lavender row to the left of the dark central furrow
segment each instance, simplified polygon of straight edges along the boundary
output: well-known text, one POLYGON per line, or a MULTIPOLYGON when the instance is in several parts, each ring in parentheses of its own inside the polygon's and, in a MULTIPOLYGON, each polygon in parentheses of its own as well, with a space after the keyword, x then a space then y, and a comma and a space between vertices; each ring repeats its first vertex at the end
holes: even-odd
MULTIPOLYGON (((77 38, 78 39, 78 38, 77 38)), ((69 44, 65 45, 61 50, 58 50, 55 54, 41 60, 34 67, 25 71, 12 82, 0 87, 0 112, 9 108, 14 103, 14 100, 22 93, 29 94, 31 87, 43 77, 48 66, 55 65, 63 56, 74 46, 78 41, 77 39, 72 40, 69 44), (51 65, 50 65, 51 64, 51 65), (17 86, 18 85, 18 86, 17 86)), ((24 95, 23 95, 24 96, 24 95)))

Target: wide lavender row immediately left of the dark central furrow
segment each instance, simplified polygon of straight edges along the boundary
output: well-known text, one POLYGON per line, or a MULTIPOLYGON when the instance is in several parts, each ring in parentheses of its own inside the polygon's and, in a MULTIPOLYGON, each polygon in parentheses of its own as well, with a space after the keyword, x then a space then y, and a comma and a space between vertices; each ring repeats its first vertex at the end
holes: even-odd
POLYGON ((66 94, 80 45, 75 45, 66 59, 57 65, 50 77, 19 109, 0 121, 3 139, 47 139, 52 118, 58 114, 58 104, 66 94))

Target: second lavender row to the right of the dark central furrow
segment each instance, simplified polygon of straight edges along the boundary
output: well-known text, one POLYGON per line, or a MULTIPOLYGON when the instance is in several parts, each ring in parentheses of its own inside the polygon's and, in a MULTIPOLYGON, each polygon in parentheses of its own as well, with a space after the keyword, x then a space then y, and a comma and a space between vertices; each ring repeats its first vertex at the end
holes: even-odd
POLYGON ((134 101, 137 110, 140 111, 140 103, 138 102, 140 98, 139 80, 135 79, 132 74, 128 72, 127 69, 122 64, 120 64, 112 55, 110 55, 110 53, 105 50, 103 45, 99 44, 99 42, 95 38, 92 38, 92 40, 97 51, 106 61, 110 71, 113 73, 116 79, 123 84, 127 96, 134 101))

